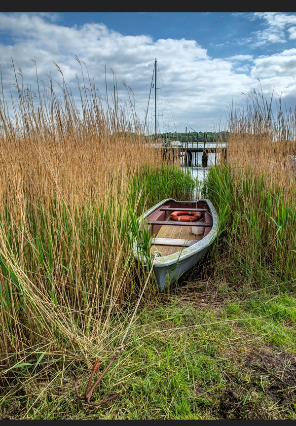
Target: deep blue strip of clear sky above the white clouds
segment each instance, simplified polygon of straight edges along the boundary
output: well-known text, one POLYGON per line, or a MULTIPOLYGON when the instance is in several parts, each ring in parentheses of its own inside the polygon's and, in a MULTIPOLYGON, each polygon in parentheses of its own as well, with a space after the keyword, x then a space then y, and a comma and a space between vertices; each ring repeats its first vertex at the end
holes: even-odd
MULTIPOLYGON (((296 13, 285 14, 289 17, 296 13)), ((268 23, 261 13, 255 15, 255 12, 71 12, 60 13, 59 19, 61 25, 66 26, 103 22, 124 36, 144 34, 153 41, 159 38, 196 40, 216 58, 241 54, 242 45, 245 54, 266 54, 268 43, 259 42, 263 32, 276 35, 275 42, 267 49, 271 53, 281 51, 284 39, 287 47, 295 47, 289 39, 288 28, 276 25, 271 31, 270 19, 268 23)))

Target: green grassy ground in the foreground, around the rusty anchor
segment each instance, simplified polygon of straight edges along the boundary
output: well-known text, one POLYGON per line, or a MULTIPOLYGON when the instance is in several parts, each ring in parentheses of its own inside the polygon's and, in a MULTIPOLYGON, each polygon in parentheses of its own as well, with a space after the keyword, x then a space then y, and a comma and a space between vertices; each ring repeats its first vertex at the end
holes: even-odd
MULTIPOLYGON (((186 286, 162 296, 158 307, 142 304, 125 352, 92 398, 99 402, 118 391, 115 400, 102 407, 80 402, 72 373, 83 393, 89 377, 83 357, 38 351, 28 365, 10 370, 14 377, 0 403, 1 418, 296 419, 293 296, 240 300, 229 291, 210 309, 207 292, 189 292, 186 286), (208 307, 197 309, 202 299, 208 307)), ((111 351, 99 355, 101 370, 111 351)))

